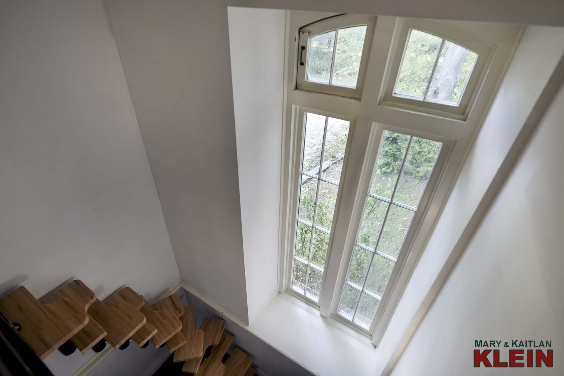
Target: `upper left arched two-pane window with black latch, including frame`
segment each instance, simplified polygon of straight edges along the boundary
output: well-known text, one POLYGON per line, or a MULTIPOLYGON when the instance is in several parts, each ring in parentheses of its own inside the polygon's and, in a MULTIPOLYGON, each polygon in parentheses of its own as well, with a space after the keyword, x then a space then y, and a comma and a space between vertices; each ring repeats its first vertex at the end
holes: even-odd
POLYGON ((360 98, 374 17, 338 15, 299 30, 298 89, 360 98))

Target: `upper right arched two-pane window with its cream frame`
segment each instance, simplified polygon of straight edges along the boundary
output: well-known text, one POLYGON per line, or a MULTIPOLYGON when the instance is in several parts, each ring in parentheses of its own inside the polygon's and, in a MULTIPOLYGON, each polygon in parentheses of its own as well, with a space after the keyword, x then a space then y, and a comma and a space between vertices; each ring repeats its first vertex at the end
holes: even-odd
POLYGON ((396 35, 381 103, 468 118, 493 48, 462 30, 430 20, 404 19, 396 35))

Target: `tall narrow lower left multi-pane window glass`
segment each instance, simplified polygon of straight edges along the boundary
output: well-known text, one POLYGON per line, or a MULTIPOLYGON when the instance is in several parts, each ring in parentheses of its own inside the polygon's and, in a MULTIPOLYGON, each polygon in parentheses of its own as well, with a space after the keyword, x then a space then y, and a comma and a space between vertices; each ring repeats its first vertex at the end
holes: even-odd
POLYGON ((350 121, 306 112, 292 289, 317 303, 345 160, 350 121))

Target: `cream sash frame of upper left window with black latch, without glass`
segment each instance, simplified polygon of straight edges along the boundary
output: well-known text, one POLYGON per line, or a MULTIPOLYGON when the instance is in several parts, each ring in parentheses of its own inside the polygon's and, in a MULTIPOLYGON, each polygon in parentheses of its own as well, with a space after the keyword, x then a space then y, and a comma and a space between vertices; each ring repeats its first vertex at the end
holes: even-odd
POLYGON ((302 26, 298 32, 298 44, 299 44, 299 54, 297 61, 297 78, 296 87, 297 89, 309 90, 315 92, 324 92, 326 94, 334 94, 340 96, 346 96, 349 98, 360 98, 362 96, 362 89, 364 86, 364 76, 366 73, 366 68, 368 64, 368 56, 370 55, 370 48, 372 45, 372 36, 374 35, 374 23, 376 17, 366 16, 366 15, 337 15, 327 17, 326 19, 316 21, 312 24, 302 26), (337 38, 336 34, 334 44, 333 44, 333 60, 331 61, 331 73, 329 74, 329 84, 307 81, 307 70, 309 67, 309 52, 310 52, 310 39, 312 37, 318 36, 319 34, 324 34, 332 30, 349 28, 352 26, 367 25, 366 35, 364 37, 363 54, 360 59, 360 67, 358 72, 358 79, 356 81, 356 87, 347 87, 333 85, 332 81, 332 71, 333 63, 335 61, 337 38), (303 63, 303 65, 302 65, 303 63))

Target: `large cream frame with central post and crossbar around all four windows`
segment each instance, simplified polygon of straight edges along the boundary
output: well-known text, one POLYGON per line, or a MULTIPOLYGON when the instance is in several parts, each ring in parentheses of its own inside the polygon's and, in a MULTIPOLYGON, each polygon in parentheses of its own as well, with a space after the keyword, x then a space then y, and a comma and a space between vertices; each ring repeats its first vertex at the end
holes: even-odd
MULTIPOLYGON (((376 20, 376 25, 374 26, 375 33, 371 36, 372 46, 365 73, 365 82, 362 83, 362 100, 297 88, 298 30, 303 25, 314 23, 316 20, 330 16, 330 14, 288 11, 288 15, 278 290, 279 293, 284 294, 288 299, 296 299, 296 306, 302 306, 303 302, 306 302, 311 307, 318 308, 320 318, 323 318, 331 325, 340 327, 361 342, 369 340, 373 346, 377 346, 446 202, 460 166, 470 148, 473 135, 475 135, 475 132, 483 122, 486 110, 493 100, 523 28, 514 25, 492 24, 484 29, 480 23, 422 20, 429 25, 435 23, 445 24, 449 28, 469 34, 472 38, 478 39, 479 42, 491 48, 486 60, 486 67, 481 72, 479 85, 475 89, 476 92, 473 93, 472 105, 469 105, 464 115, 459 116, 445 113, 444 111, 422 110, 416 106, 404 106, 382 101, 390 72, 395 70, 394 73, 397 73, 397 68, 399 67, 398 64, 398 67, 391 68, 393 57, 395 56, 394 46, 398 45, 398 33, 396 33, 396 30, 406 25, 405 19, 400 17, 378 16, 376 20), (382 51, 389 51, 389 54, 383 54, 382 51), (297 211, 297 201, 294 201, 294 194, 296 194, 296 189, 299 188, 297 184, 294 184, 296 183, 294 179, 295 171, 299 168, 302 152, 301 145, 298 148, 297 142, 299 137, 303 137, 303 134, 298 132, 297 127, 300 118, 299 114, 307 111, 329 114, 332 117, 346 120, 349 120, 349 118, 355 120, 354 131, 351 129, 349 139, 347 140, 346 165, 343 164, 338 202, 334 212, 331 239, 329 240, 330 244, 325 261, 325 272, 318 304, 312 304, 311 301, 308 301, 309 299, 292 294, 291 287, 289 287, 292 278, 292 266, 291 264, 289 265, 289 262, 292 260, 294 251, 293 237, 295 236, 296 223, 295 217, 292 218, 292 213, 294 208, 297 211), (365 163, 364 161, 370 161, 371 156, 376 158, 376 154, 371 153, 377 153, 377 143, 374 144, 374 142, 377 139, 378 132, 381 132, 383 129, 440 140, 443 142, 443 151, 446 150, 448 145, 448 153, 442 154, 446 155, 446 160, 440 171, 437 167, 433 171, 434 176, 439 176, 438 182, 431 191, 425 193, 431 194, 433 200, 429 200, 425 208, 421 205, 418 210, 421 213, 425 210, 425 215, 421 214, 422 218, 417 225, 418 231, 413 234, 413 238, 409 241, 409 249, 407 249, 403 256, 402 269, 398 269, 398 272, 394 273, 393 278, 390 278, 389 285, 384 294, 386 296, 385 307, 382 308, 381 313, 378 313, 378 319, 374 319, 373 328, 369 331, 363 331, 359 326, 350 325, 350 322, 344 322, 339 317, 336 317, 336 309, 341 297, 340 293, 352 252, 349 233, 351 231, 355 232, 358 229, 358 224, 355 226, 352 222, 355 222, 355 218, 358 221, 360 215, 362 215, 358 214, 358 210, 362 212, 363 208, 356 208, 364 204, 367 193, 366 190, 360 189, 360 187, 362 182, 368 179, 367 174, 370 176, 372 174, 371 166, 369 166, 370 163, 365 163), (297 157, 297 155, 300 157, 297 157), (298 163, 298 167, 296 167, 296 163, 298 163), (364 171, 369 171, 369 173, 364 171), (361 200, 362 204, 359 204, 358 200, 361 200)), ((426 27, 418 29, 423 31, 429 30, 426 27)), ((443 37, 453 40, 453 42, 462 46, 465 45, 465 43, 459 43, 459 41, 454 40, 456 38, 451 38, 450 35, 443 35, 443 37)), ((399 43, 402 50, 405 43, 406 41, 399 43)), ((472 48, 472 50, 475 49, 472 48)), ((400 53, 400 57, 401 55, 402 53, 400 53)), ((473 76, 475 72, 477 71, 474 70, 473 76)), ((359 81, 360 84, 361 82, 359 81)), ((301 143, 301 140, 299 142, 301 143)), ((405 243, 408 243, 407 240, 405 243)), ((407 247, 406 244, 404 246, 407 247)))

